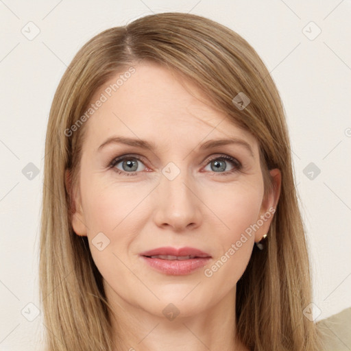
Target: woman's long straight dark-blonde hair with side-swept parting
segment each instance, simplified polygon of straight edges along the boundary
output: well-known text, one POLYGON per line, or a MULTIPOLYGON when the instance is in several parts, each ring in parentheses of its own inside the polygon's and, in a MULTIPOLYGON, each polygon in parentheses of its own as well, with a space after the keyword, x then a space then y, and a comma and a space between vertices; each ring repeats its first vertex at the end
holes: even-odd
POLYGON ((202 16, 183 13, 144 16, 101 32, 78 51, 56 90, 45 145, 40 236, 45 350, 119 349, 112 343, 111 309, 87 238, 76 235, 71 226, 74 204, 66 181, 77 186, 85 123, 70 135, 65 131, 81 119, 102 84, 144 60, 191 80, 210 104, 257 138, 265 191, 273 186, 268 170, 282 173, 265 250, 254 247, 237 282, 238 337, 256 351, 320 351, 319 332, 303 313, 311 302, 311 272, 278 90, 241 36, 202 16), (232 102, 239 93, 250 98, 244 109, 232 102), (72 174, 68 180, 66 169, 72 174))

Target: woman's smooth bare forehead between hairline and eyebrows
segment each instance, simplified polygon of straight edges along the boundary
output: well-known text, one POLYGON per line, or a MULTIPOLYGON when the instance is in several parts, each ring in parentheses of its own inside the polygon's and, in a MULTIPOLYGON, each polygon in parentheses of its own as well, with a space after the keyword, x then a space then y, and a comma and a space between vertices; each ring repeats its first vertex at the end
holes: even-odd
MULTIPOLYGON (((241 137, 257 149, 256 138, 219 112, 189 80, 154 64, 134 64, 111 77, 90 101, 104 101, 88 120, 87 138, 112 134, 175 143, 241 137)), ((96 104, 95 104, 96 105, 96 104)), ((234 107, 233 107, 234 108, 234 107)))

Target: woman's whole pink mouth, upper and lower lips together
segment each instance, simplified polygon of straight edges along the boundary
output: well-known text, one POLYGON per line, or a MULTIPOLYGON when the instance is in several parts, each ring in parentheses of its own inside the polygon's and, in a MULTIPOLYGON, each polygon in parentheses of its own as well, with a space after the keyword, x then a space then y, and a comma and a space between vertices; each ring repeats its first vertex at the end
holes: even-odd
POLYGON ((193 247, 159 247, 140 254, 149 267, 162 274, 183 276, 191 274, 210 261, 209 254, 193 247))

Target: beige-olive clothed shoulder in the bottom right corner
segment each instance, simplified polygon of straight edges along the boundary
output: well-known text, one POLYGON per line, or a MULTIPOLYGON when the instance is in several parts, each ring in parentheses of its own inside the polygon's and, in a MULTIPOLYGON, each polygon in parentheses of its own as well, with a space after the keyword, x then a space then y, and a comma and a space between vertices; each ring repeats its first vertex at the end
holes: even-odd
POLYGON ((325 351, 351 350, 351 307, 316 324, 325 351))

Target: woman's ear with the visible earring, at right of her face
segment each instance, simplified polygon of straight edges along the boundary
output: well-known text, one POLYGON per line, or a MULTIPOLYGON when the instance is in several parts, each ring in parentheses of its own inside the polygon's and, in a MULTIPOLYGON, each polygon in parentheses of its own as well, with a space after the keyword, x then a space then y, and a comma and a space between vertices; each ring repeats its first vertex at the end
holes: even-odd
POLYGON ((260 214, 257 218, 256 225, 259 227, 255 232, 255 242, 261 241, 263 235, 267 234, 271 221, 276 212, 280 196, 280 187, 282 183, 282 174, 279 169, 271 169, 269 171, 271 177, 272 189, 267 193, 263 199, 260 214))

